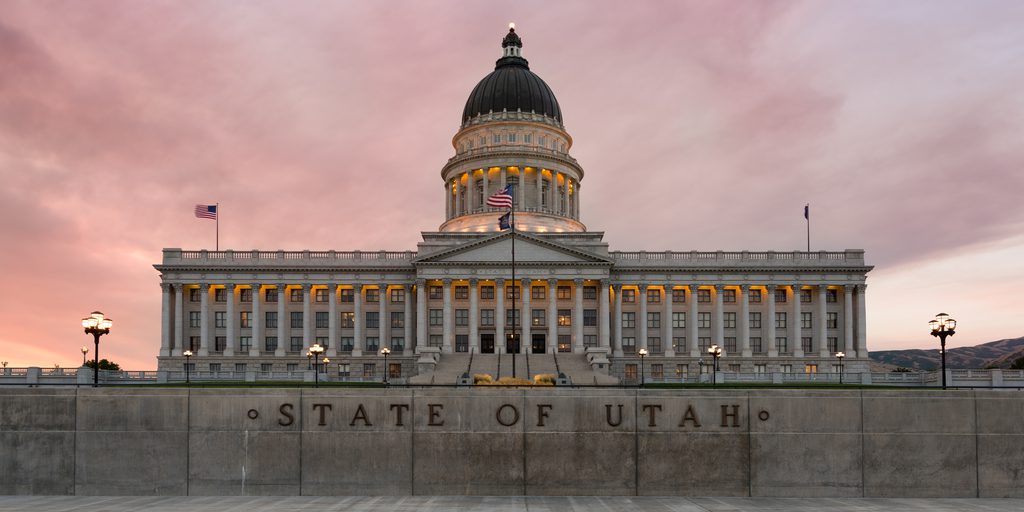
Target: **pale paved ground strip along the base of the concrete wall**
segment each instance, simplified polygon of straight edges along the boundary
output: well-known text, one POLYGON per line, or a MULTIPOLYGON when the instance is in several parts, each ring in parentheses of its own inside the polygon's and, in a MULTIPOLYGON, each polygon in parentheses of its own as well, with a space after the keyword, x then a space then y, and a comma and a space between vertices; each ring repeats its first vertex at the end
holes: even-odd
POLYGON ((540 497, 0 497, 0 511, 32 512, 1018 512, 1024 500, 802 498, 540 498, 540 497))

